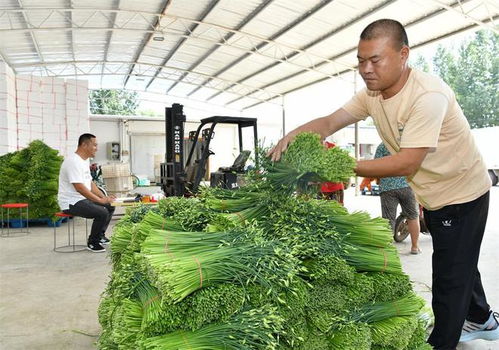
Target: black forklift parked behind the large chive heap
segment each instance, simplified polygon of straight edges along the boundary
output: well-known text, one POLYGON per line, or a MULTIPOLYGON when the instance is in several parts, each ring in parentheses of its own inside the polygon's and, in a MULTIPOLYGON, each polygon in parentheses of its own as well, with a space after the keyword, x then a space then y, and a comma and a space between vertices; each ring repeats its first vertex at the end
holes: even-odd
POLYGON ((197 193, 201 180, 206 174, 208 158, 214 154, 209 147, 215 135, 215 126, 218 124, 237 125, 240 153, 231 166, 221 167, 210 174, 210 186, 239 188, 246 161, 251 154, 251 151, 243 150, 243 128, 253 128, 255 164, 258 167, 256 118, 213 116, 201 119, 197 130, 189 133, 190 150, 184 162, 185 121, 182 105, 175 103, 165 109, 166 153, 165 162, 161 163, 161 188, 166 196, 191 196, 197 193), (194 155, 196 151, 199 153, 198 156, 194 155))

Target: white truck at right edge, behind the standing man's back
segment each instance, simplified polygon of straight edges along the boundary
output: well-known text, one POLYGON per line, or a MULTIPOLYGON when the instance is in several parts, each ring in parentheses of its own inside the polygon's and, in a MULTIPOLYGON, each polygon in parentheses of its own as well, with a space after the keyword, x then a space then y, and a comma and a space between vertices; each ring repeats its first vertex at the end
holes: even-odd
POLYGON ((499 178, 499 126, 472 129, 471 133, 489 170, 492 186, 496 186, 499 178))

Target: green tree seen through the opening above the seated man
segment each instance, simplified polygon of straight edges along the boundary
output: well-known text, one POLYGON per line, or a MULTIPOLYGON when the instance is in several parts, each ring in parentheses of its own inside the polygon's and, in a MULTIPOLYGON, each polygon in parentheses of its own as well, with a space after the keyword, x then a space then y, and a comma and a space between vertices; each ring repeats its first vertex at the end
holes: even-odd
POLYGON ((126 90, 90 90, 92 114, 135 115, 139 106, 138 93, 126 90))

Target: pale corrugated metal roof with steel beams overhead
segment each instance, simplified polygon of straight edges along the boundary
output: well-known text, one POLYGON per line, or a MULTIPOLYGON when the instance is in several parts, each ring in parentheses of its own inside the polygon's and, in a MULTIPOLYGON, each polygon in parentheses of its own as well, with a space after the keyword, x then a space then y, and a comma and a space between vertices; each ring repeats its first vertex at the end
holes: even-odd
POLYGON ((356 69, 362 29, 402 22, 411 46, 476 27, 495 0, 1 0, 0 59, 18 74, 243 109, 356 69))

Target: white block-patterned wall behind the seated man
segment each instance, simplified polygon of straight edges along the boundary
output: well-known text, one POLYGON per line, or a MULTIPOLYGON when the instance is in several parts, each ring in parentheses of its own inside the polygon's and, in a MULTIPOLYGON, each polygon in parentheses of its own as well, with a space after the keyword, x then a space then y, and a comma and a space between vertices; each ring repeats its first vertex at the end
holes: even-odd
POLYGON ((66 155, 89 130, 86 81, 16 76, 0 62, 0 154, 38 139, 66 155))

